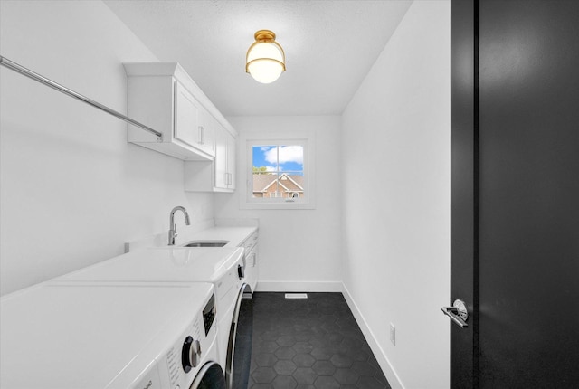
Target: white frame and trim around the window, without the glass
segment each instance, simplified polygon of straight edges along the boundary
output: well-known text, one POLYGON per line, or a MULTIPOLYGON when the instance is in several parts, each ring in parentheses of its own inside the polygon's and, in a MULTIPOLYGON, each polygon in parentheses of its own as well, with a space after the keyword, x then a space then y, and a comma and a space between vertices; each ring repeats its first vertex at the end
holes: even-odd
POLYGON ((245 132, 240 137, 242 160, 241 209, 316 209, 315 137, 313 131, 245 132), (305 194, 297 198, 260 197, 253 198, 252 191, 252 147, 253 146, 303 146, 305 194))

